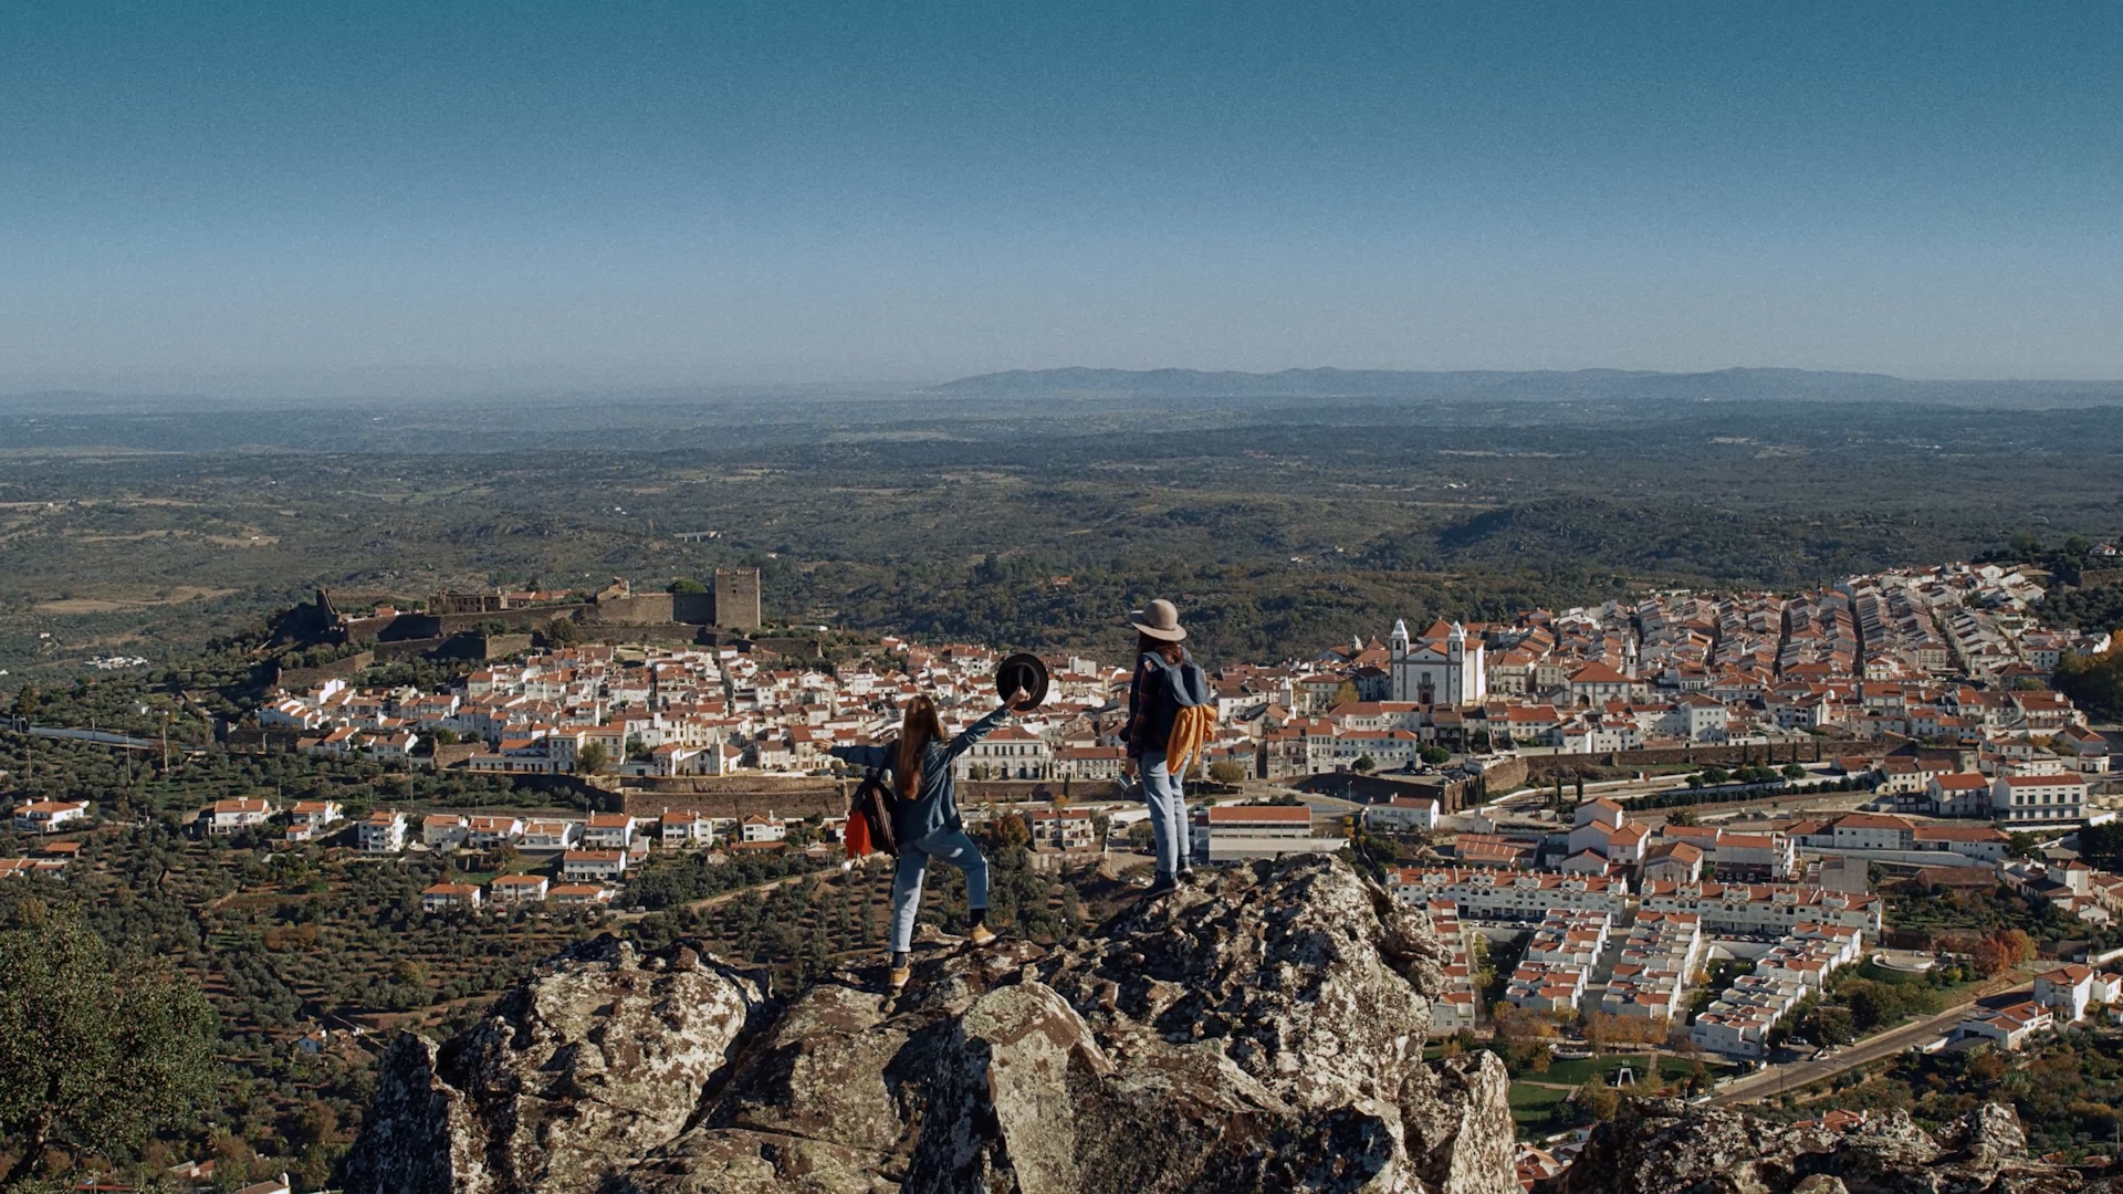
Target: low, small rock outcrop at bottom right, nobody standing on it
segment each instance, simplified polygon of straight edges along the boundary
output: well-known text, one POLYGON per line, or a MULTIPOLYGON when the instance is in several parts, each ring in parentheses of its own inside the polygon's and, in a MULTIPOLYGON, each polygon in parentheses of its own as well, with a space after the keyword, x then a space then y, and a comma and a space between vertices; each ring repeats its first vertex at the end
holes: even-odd
POLYGON ((1535 1194, 2068 1194, 2083 1186, 2072 1169, 2030 1160, 2027 1137, 2002 1105, 1977 1107, 1932 1135, 1904 1111, 1839 1132, 1645 1101, 1594 1130, 1577 1162, 1535 1194))

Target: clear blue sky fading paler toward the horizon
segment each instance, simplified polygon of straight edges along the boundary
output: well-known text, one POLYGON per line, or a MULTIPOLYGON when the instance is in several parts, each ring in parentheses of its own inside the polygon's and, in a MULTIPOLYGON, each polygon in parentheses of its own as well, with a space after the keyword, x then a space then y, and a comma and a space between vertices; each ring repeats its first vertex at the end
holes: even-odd
POLYGON ((0 389, 1070 363, 2123 376, 2123 4, 0 6, 0 389))

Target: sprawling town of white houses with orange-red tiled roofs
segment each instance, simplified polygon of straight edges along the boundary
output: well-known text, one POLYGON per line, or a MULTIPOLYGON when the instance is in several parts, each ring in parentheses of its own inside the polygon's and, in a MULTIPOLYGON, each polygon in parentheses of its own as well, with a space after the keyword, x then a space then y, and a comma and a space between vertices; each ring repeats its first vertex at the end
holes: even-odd
MULTIPOLYGON (((2072 850, 2123 805, 2110 737, 2049 686, 2110 642, 2042 627, 2040 595, 2021 569, 1945 565, 1798 595, 1395 622, 1276 663, 1219 661, 1185 850, 1199 867, 1359 860, 1446 943, 1444 1047, 1537 1041, 1554 1060, 1526 1075, 1531 1054, 1516 1056, 1526 1090, 1616 1045, 1707 1062, 1703 1096, 1832 1073, 1839 1047, 1909 1030, 1839 1045, 1817 1026, 1856 973, 1966 996, 1917 1047, 2017 1050, 2123 1003, 2123 954, 1998 962, 2006 945, 1923 931, 1906 892, 1996 888, 2089 939, 2123 924, 2123 877, 2072 850)), ((915 697, 962 731, 996 707, 1008 654, 892 635, 830 652, 802 635, 567 637, 527 635, 442 684, 365 684, 367 656, 282 682, 227 748, 365 769, 372 799, 223 797, 189 833, 263 858, 439 863, 416 916, 444 926, 641 918, 664 907, 637 890, 656 865, 843 865, 860 771, 832 752, 890 741, 915 697), (541 799, 391 795, 452 775, 541 799)), ((1013 818, 1053 873, 1140 882, 1132 669, 1083 652, 1042 665, 1038 707, 955 758, 966 822, 1013 818)), ((110 818, 98 801, 17 805, 34 846, 0 877, 64 877, 110 818)), ((314 1026, 295 1047, 329 1039, 314 1026)), ((1524 1143, 1520 1171, 1556 1173, 1575 1147, 1524 1143)))

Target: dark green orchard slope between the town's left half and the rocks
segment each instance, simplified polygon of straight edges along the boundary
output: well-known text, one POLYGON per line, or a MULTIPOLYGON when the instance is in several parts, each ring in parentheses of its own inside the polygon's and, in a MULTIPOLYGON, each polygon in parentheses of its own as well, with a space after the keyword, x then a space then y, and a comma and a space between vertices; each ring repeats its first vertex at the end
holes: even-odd
MULTIPOLYGON (((212 771, 217 790, 274 790, 227 784, 244 767, 270 773, 272 756, 210 756, 191 767, 234 769, 212 771)), ((323 782, 352 795, 365 780, 323 782)), ((446 1039, 577 941, 601 933, 641 945, 694 939, 792 992, 826 971, 866 973, 887 933, 890 867, 875 860, 841 871, 798 850, 724 863, 679 850, 654 854, 620 907, 429 914, 422 888, 484 882, 535 860, 507 850, 378 858, 323 843, 265 846, 255 835, 200 839, 174 816, 197 792, 183 767, 140 792, 127 805, 136 818, 64 835, 81 843, 64 877, 0 884, 0 926, 79 918, 119 956, 163 960, 200 986, 219 1018, 225 1064, 191 1130, 157 1143, 146 1160, 212 1156, 229 1181, 284 1169, 323 1186, 361 1122, 391 1033, 446 1039)), ((0 856, 40 846, 0 831, 0 856)), ((1057 941, 1123 897, 1095 873, 1034 871, 1021 824, 989 826, 985 846, 991 924, 1006 933, 1057 941)), ((964 933, 957 871, 932 871, 921 918, 964 933)))

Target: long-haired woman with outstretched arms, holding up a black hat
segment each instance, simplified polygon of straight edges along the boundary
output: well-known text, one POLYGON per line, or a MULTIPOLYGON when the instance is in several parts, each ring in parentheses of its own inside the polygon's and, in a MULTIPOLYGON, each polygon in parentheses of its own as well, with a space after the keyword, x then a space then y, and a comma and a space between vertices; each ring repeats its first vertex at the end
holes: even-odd
POLYGON ((970 907, 974 945, 996 939, 987 926, 987 858, 981 848, 966 837, 966 826, 957 818, 957 782, 951 767, 972 744, 994 733, 1023 707, 1030 695, 1019 688, 996 712, 966 727, 964 733, 945 741, 943 722, 936 720, 936 701, 915 697, 907 701, 900 716, 900 737, 885 746, 834 746, 830 754, 853 767, 875 767, 892 775, 892 790, 898 807, 892 816, 892 833, 900 843, 900 865, 892 875, 892 990, 907 986, 913 967, 909 954, 915 939, 915 914, 921 911, 921 880, 928 877, 930 858, 940 858, 966 871, 966 905, 970 907))

